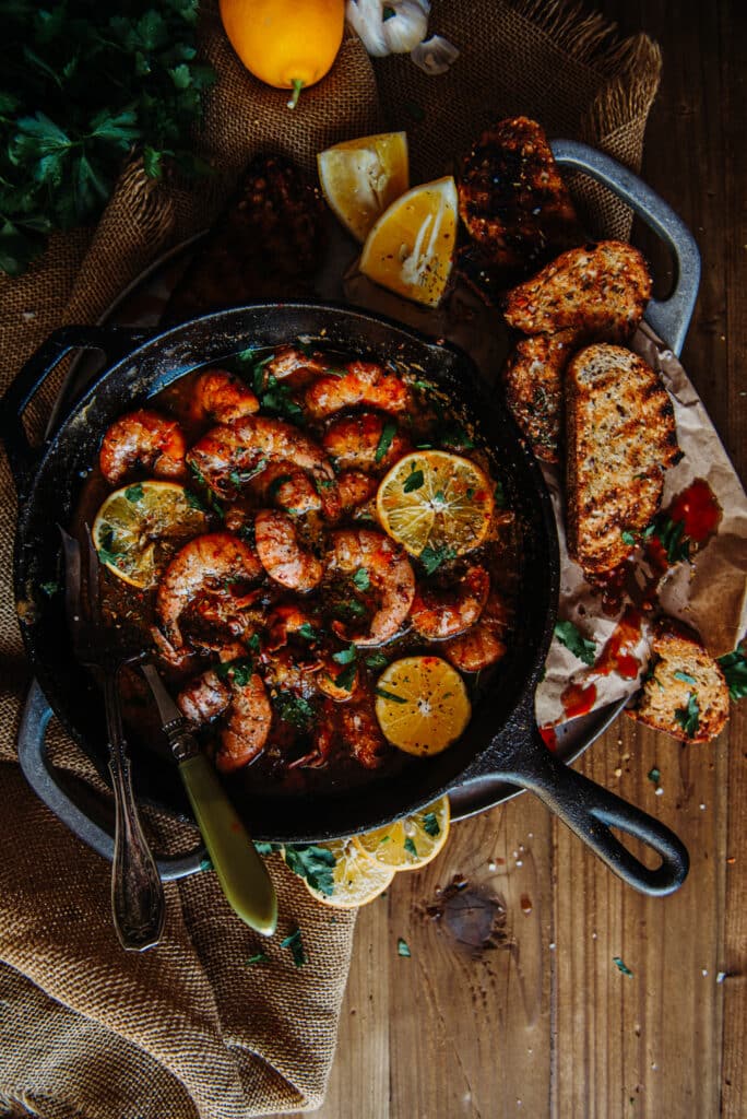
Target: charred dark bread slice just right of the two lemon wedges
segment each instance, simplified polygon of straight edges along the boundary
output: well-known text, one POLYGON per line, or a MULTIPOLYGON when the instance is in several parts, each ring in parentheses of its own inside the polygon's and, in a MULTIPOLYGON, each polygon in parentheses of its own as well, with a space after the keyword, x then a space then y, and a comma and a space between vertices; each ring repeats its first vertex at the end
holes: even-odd
POLYGON ((483 293, 485 284, 505 289, 584 241, 547 137, 526 116, 483 132, 462 160, 457 187, 471 242, 460 265, 483 293))

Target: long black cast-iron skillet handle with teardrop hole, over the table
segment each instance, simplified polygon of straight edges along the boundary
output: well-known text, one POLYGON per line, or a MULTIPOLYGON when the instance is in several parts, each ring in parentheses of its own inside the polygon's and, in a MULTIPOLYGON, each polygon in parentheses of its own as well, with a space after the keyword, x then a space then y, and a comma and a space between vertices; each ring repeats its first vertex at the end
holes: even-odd
POLYGON ((501 777, 536 793, 628 886, 660 897, 679 890, 688 875, 690 856, 674 833, 559 762, 536 726, 531 734, 532 742, 524 740, 517 751, 514 768, 504 771, 501 765, 501 777), (655 871, 644 866, 613 835, 611 827, 641 839, 661 857, 661 866, 655 871))

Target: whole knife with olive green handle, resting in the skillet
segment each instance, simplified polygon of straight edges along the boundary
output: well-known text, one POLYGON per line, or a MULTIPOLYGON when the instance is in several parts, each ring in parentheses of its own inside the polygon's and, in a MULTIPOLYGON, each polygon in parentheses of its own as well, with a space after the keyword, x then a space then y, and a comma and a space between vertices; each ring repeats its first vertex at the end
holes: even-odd
POLYGON ((277 924, 277 897, 265 864, 158 671, 152 665, 141 668, 223 892, 249 928, 272 937, 277 924))

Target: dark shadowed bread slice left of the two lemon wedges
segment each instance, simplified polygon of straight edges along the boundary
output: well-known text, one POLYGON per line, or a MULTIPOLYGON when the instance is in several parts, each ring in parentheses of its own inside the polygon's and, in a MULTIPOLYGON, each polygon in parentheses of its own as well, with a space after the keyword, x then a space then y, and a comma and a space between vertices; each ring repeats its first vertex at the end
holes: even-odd
POLYGON ((282 156, 255 156, 192 262, 176 284, 163 322, 182 322, 255 299, 313 294, 324 208, 282 156))

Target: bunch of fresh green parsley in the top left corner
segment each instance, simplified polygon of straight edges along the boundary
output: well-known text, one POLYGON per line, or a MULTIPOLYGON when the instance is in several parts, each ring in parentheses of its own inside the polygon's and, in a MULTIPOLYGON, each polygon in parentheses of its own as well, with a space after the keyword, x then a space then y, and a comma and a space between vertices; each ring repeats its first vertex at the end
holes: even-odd
POLYGON ((125 157, 158 178, 191 151, 202 92, 198 0, 0 0, 0 270, 20 275, 54 229, 94 220, 125 157))

